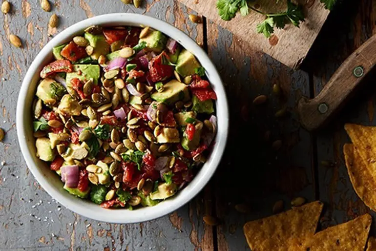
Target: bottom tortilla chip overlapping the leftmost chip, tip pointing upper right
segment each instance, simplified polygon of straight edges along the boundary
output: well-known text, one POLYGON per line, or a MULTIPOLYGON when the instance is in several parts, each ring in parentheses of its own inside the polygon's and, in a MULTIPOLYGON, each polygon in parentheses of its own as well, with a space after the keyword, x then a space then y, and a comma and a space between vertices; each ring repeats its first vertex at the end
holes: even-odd
POLYGON ((299 239, 291 244, 289 251, 363 251, 372 223, 371 215, 364 214, 346 223, 299 239))

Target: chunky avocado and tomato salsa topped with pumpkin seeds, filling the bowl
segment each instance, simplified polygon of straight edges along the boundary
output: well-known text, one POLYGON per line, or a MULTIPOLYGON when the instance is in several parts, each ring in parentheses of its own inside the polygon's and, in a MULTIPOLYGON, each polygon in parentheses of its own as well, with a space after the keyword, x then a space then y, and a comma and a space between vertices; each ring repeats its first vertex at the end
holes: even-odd
POLYGON ((52 53, 34 137, 67 192, 135 209, 193 179, 213 144, 217 97, 192 53, 150 27, 97 25, 52 53))

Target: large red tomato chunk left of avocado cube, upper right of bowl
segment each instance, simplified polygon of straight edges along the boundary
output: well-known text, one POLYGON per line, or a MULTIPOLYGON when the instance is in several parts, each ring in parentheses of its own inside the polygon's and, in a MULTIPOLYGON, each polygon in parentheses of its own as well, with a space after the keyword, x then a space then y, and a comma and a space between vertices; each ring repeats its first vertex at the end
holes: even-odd
POLYGON ((174 73, 174 68, 171 65, 163 64, 163 57, 169 59, 166 52, 162 52, 149 62, 150 79, 154 83, 166 80, 174 73))

